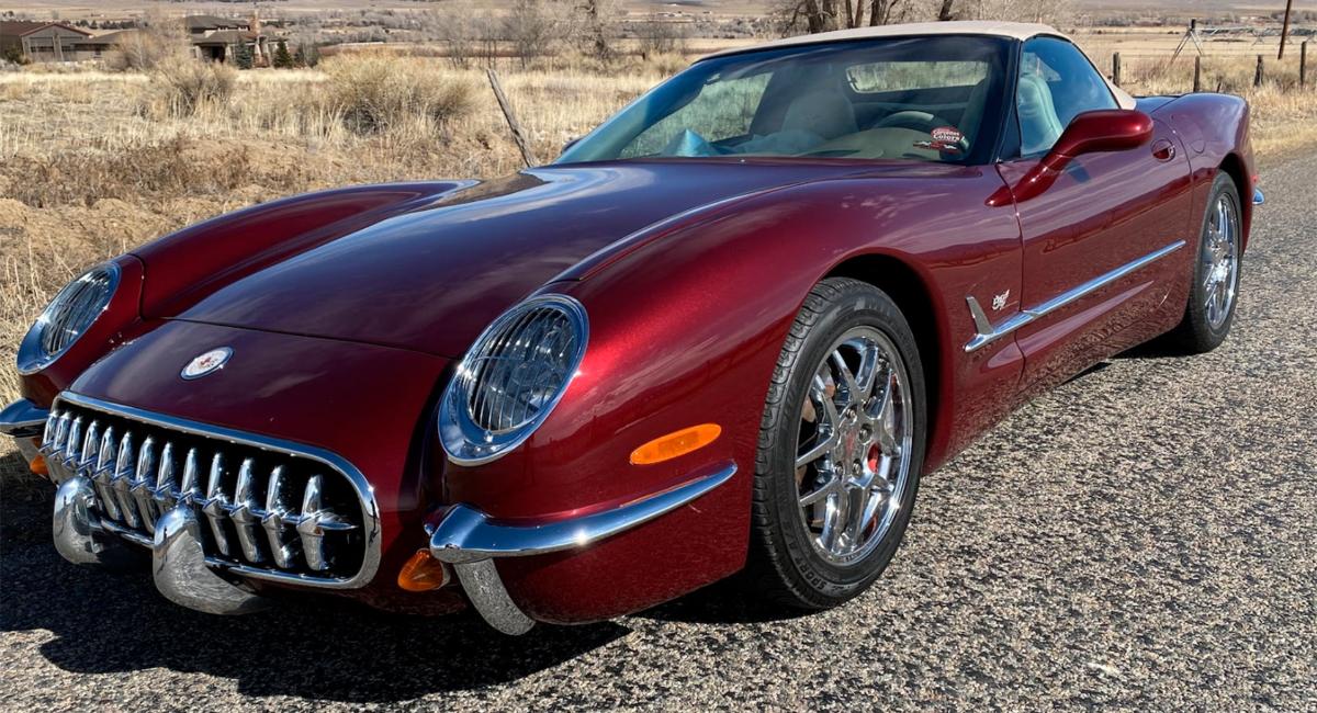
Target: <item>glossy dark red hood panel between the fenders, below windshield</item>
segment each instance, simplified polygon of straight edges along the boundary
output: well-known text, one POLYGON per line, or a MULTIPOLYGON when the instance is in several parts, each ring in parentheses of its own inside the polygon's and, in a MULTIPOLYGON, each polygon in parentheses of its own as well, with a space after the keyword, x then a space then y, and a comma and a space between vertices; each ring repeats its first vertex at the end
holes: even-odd
POLYGON ((857 170, 792 160, 527 170, 309 246, 167 317, 458 356, 499 313, 627 235, 857 170))

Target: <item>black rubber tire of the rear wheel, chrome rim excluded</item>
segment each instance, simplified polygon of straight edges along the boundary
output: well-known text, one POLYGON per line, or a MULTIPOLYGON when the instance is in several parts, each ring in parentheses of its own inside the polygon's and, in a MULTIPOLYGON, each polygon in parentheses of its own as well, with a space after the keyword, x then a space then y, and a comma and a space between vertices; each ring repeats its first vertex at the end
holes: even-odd
POLYGON ((1234 324, 1235 305, 1239 304, 1239 275, 1243 270, 1242 216, 1243 212, 1239 204, 1238 187, 1235 187, 1235 183, 1229 174, 1225 171, 1218 172, 1216 180, 1212 183, 1212 191, 1208 193, 1206 210, 1204 210, 1202 214, 1202 226, 1200 229, 1198 242, 1196 246, 1197 253, 1193 259, 1193 274, 1189 276, 1189 303, 1184 308, 1184 318, 1168 335, 1171 343, 1179 351, 1185 354, 1205 354, 1221 346, 1221 342, 1223 342, 1226 335, 1230 334, 1230 325, 1234 324), (1204 283, 1204 271, 1208 260, 1212 259, 1209 233, 1212 230, 1217 204, 1221 200, 1227 201, 1231 207, 1235 241, 1235 270, 1229 279, 1229 282, 1233 283, 1229 285, 1229 308, 1225 310, 1223 318, 1213 324, 1213 320, 1209 318, 1206 308, 1209 288, 1204 283))

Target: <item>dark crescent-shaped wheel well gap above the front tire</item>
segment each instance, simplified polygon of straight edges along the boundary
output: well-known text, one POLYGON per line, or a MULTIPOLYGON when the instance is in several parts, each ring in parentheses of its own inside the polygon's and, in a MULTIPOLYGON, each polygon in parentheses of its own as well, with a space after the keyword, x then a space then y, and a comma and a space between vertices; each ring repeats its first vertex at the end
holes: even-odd
POLYGON ((836 266, 828 278, 851 278, 865 282, 885 292, 910 324, 915 346, 919 349, 919 363, 923 364, 923 381, 928 404, 928 439, 931 446, 939 430, 939 406, 942 404, 942 349, 938 335, 938 318, 934 314, 932 295, 919 275, 906 263, 888 255, 863 255, 836 266))

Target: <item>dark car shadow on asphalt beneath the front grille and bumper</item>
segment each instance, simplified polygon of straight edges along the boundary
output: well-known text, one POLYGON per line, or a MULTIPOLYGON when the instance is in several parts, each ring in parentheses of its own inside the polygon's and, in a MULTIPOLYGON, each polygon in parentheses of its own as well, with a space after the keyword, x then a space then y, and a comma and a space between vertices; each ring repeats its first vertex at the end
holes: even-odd
POLYGON ((386 704, 514 681, 630 633, 605 622, 514 638, 473 614, 387 614, 332 596, 200 614, 155 592, 145 558, 125 572, 65 562, 50 543, 53 488, 22 470, 17 454, 0 459, 0 630, 53 633, 40 652, 65 671, 165 668, 232 679, 250 696, 386 704))

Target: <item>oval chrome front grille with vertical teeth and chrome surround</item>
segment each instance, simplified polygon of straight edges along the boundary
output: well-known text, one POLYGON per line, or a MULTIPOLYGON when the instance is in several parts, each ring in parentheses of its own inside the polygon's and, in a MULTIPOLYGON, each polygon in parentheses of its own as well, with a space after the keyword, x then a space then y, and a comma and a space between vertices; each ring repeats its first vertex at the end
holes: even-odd
POLYGON ((329 453, 71 393, 51 408, 41 450, 55 480, 92 483, 101 528, 138 545, 183 506, 212 567, 357 587, 378 566, 370 488, 329 453))

